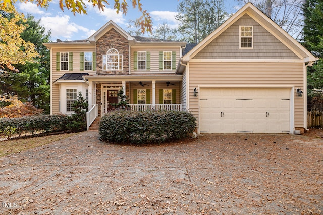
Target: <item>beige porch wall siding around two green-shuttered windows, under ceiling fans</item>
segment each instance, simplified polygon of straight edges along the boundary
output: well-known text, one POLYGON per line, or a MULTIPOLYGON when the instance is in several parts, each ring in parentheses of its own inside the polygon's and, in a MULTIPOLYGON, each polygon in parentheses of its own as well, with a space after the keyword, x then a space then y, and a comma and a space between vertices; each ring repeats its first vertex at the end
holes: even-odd
MULTIPOLYGON (((156 104, 159 104, 159 89, 176 89, 176 103, 180 104, 180 82, 172 82, 172 84, 176 84, 176 86, 173 85, 166 85, 166 82, 156 82, 156 104)), ((130 104, 133 104, 133 90, 134 89, 150 89, 150 103, 152 104, 152 83, 151 82, 144 82, 146 84, 149 84, 149 86, 142 87, 141 85, 137 83, 131 83, 130 84, 130 104)))

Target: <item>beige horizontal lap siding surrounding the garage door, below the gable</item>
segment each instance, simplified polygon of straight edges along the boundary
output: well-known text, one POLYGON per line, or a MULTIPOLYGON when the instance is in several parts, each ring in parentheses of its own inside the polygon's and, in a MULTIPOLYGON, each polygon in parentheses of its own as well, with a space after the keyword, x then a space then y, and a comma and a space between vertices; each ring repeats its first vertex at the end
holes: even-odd
MULTIPOLYGON (((188 92, 210 86, 295 86, 303 89, 302 63, 190 63, 188 92)), ((190 96, 190 111, 198 118, 198 97, 190 96)), ((303 127, 304 96, 294 96, 295 127, 303 127)))

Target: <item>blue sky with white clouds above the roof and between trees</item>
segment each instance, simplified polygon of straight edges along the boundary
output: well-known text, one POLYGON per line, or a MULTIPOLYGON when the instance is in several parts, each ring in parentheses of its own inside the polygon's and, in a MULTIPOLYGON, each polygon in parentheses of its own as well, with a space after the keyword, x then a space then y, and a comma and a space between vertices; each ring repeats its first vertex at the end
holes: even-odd
MULTIPOLYGON (((153 26, 157 26, 166 22, 172 27, 177 26, 175 14, 177 14, 177 5, 181 0, 141 0, 142 8, 147 10, 153 21, 153 26)), ((86 1, 85 1, 86 2, 86 1)), ((114 4, 113 0, 108 0, 114 4)), ((130 3, 130 1, 129 1, 130 3)), ((225 1, 226 11, 235 13, 239 8, 236 0, 225 1)), ((32 14, 36 19, 41 20, 46 30, 51 30, 51 40, 79 40, 87 39, 102 27, 109 20, 113 20, 120 27, 127 30, 129 20, 135 20, 141 16, 138 9, 132 8, 130 5, 127 15, 122 13, 116 14, 116 11, 111 8, 106 8, 104 12, 100 12, 97 8, 91 5, 87 8, 87 15, 76 14, 67 9, 64 12, 59 8, 59 1, 53 0, 50 2, 48 9, 37 7, 36 4, 17 3, 16 8, 19 12, 25 15, 32 14)))

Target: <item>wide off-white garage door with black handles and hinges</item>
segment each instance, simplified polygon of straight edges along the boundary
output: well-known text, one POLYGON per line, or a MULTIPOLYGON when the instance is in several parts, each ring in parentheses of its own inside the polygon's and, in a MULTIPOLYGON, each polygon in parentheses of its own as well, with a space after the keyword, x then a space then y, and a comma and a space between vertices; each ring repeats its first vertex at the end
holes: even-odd
POLYGON ((288 88, 201 88, 199 130, 281 133, 290 130, 288 88))

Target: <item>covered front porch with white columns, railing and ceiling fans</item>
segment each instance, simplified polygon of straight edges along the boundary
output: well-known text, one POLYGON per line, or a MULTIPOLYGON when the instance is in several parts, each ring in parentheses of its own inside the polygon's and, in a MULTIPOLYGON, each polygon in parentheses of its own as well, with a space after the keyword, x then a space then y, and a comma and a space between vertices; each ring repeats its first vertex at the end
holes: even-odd
POLYGON ((182 75, 86 75, 88 104, 91 113, 101 117, 113 110, 111 103, 118 103, 118 92, 124 89, 131 110, 185 109, 180 102, 182 75))

